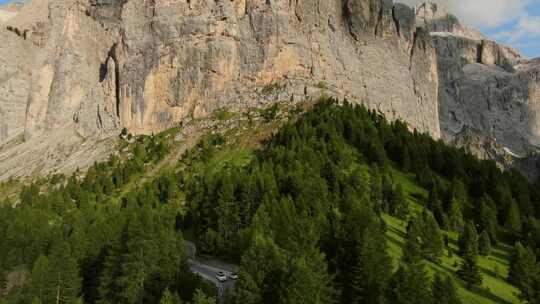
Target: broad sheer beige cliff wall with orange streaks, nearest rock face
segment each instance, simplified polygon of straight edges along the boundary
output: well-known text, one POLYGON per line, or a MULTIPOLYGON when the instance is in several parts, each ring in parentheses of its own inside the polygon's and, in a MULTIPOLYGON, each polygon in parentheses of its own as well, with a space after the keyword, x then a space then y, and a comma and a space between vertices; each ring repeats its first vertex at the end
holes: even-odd
POLYGON ((33 0, 0 30, 0 143, 148 134, 325 91, 440 137, 435 48, 414 20, 392 0, 33 0))

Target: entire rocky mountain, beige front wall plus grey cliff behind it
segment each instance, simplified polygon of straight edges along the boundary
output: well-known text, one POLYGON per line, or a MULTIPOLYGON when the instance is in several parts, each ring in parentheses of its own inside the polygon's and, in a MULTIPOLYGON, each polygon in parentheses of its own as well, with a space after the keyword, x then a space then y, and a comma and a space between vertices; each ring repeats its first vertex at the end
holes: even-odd
POLYGON ((2 27, 0 179, 87 167, 123 128, 321 95, 449 142, 538 141, 534 61, 434 4, 33 0, 2 27))

